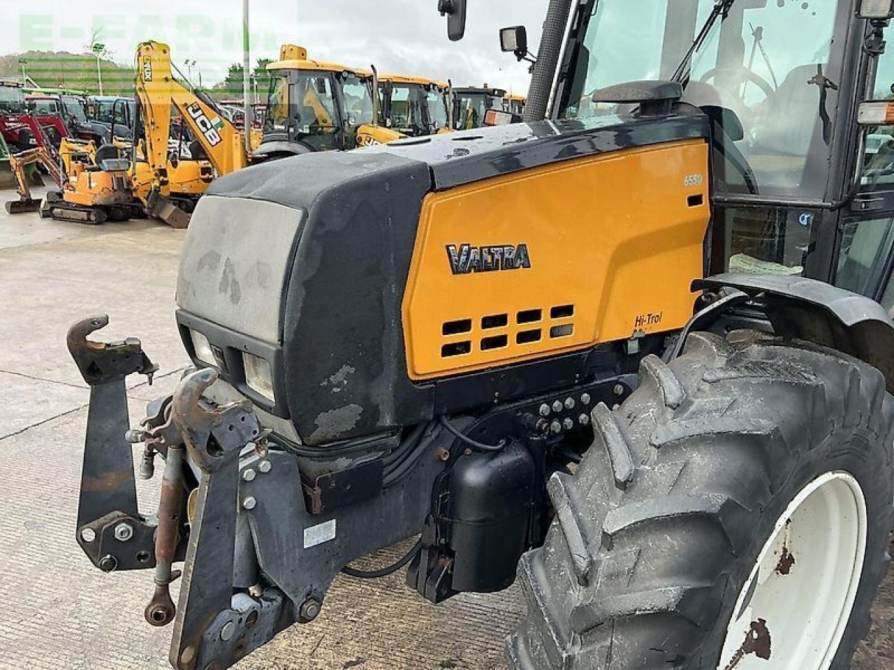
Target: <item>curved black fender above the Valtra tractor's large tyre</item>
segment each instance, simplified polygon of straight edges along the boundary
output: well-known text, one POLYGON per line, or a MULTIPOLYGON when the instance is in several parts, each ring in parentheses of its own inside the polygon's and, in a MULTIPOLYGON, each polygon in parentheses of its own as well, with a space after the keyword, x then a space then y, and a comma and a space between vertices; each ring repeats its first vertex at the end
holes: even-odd
POLYGON ((894 393, 894 322, 873 299, 823 281, 773 274, 717 274, 693 290, 738 289, 763 306, 773 331, 855 356, 881 370, 894 393))

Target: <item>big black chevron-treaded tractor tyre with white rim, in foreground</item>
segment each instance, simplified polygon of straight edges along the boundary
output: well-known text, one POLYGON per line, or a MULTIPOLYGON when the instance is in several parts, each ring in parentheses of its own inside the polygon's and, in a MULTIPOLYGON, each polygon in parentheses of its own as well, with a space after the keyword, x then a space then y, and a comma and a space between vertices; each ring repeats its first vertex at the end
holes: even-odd
POLYGON ((696 333, 555 475, 519 670, 846 670, 887 570, 894 398, 861 361, 696 333))

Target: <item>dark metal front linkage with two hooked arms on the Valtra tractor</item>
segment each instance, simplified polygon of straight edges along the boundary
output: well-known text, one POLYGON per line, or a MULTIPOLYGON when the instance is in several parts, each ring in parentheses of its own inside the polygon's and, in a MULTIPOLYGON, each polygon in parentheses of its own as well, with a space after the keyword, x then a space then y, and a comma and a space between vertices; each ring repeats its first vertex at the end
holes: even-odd
POLYGON ((144 614, 153 625, 173 621, 169 660, 177 670, 223 670, 291 624, 313 620, 344 565, 423 528, 444 467, 439 454, 452 436, 423 440, 416 467, 377 495, 313 510, 297 459, 267 443, 249 400, 211 399, 232 399, 211 389, 212 368, 186 374, 173 396, 149 404, 142 430, 130 431, 125 378, 156 366, 137 339, 87 339, 107 323, 106 316, 76 323, 68 338, 91 389, 78 542, 106 571, 155 568, 144 614), (138 512, 135 442, 146 447, 141 476, 151 476, 154 455, 164 456, 156 518, 138 512), (174 607, 173 563, 184 558, 174 607))

